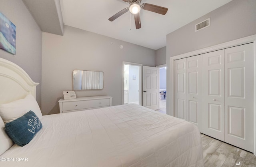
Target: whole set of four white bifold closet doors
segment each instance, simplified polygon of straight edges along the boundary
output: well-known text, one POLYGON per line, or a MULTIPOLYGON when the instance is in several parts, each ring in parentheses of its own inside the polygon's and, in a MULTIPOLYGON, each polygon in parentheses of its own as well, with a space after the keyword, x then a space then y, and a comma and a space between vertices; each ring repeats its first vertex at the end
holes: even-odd
POLYGON ((254 44, 175 60, 174 116, 253 152, 254 44))

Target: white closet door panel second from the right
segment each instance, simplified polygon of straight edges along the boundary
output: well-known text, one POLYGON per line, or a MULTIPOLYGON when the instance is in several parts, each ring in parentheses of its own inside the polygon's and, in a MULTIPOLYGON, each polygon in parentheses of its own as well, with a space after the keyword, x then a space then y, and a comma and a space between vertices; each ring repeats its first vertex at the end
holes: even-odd
POLYGON ((224 141, 224 50, 203 54, 203 133, 224 141))

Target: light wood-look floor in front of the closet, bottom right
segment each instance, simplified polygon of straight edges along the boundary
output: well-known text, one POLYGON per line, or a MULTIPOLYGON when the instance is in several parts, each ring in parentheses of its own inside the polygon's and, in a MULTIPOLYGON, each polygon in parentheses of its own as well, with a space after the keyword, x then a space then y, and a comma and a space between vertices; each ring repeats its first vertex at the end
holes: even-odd
POLYGON ((256 167, 253 153, 204 134, 201 137, 205 167, 256 167))

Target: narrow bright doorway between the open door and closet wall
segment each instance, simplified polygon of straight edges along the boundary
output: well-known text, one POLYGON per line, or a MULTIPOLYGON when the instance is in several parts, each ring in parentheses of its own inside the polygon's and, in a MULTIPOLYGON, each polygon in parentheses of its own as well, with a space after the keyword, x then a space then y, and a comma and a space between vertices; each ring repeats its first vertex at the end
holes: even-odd
POLYGON ((159 68, 159 109, 166 114, 166 64, 156 66, 159 68))

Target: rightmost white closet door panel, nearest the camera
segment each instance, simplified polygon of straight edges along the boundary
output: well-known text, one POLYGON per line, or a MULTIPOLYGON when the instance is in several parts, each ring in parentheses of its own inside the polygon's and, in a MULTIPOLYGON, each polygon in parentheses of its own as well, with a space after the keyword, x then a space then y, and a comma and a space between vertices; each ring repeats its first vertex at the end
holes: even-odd
POLYGON ((225 141, 253 152, 254 46, 225 50, 225 141))

